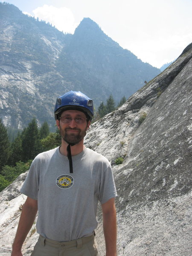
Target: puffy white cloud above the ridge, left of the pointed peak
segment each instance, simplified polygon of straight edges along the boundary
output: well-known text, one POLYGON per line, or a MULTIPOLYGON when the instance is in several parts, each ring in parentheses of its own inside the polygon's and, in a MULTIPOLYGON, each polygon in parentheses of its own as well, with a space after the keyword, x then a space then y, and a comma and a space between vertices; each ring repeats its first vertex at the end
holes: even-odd
POLYGON ((45 20, 55 26, 58 30, 73 34, 78 24, 70 9, 66 7, 57 8, 54 6, 44 5, 32 11, 35 18, 45 20))

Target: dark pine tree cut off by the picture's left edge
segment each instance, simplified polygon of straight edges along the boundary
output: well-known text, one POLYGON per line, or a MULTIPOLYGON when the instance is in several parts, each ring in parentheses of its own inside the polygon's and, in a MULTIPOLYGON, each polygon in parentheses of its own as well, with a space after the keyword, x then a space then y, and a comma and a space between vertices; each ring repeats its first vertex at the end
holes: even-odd
POLYGON ((0 119, 0 173, 2 167, 6 165, 10 154, 10 143, 7 135, 6 127, 0 119))

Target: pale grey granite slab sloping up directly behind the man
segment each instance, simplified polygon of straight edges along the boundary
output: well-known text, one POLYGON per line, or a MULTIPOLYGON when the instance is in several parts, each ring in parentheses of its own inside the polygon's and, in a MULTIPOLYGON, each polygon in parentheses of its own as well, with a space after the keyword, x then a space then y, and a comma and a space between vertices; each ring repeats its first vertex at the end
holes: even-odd
MULTIPOLYGON (((192 254, 191 71, 192 44, 163 73, 87 132, 85 145, 105 155, 113 167, 118 192, 118 256, 192 254), (120 165, 115 164, 118 157, 124 159, 120 165)), ((10 255, 25 200, 18 192, 25 176, 20 175, 0 193, 2 256, 10 255)), ((99 256, 104 256, 100 210, 98 221, 99 256)), ((25 256, 38 237, 34 226, 23 247, 25 256)))

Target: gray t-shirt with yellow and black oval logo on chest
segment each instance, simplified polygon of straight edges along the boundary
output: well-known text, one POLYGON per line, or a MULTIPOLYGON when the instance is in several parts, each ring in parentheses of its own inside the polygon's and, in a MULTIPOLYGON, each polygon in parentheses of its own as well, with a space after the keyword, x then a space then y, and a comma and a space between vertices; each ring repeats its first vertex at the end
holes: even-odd
POLYGON ((20 192, 38 200, 37 232, 56 241, 71 241, 93 234, 98 201, 116 197, 109 161, 84 148, 69 160, 59 147, 38 154, 20 192))

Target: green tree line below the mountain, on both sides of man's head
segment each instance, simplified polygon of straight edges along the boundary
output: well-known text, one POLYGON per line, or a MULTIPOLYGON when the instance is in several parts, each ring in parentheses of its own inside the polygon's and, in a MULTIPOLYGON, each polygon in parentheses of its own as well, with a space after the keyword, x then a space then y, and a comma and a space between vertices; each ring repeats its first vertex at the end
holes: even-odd
MULTIPOLYGON (((110 95, 106 104, 101 102, 94 115, 93 122, 114 111, 126 101, 122 97, 117 106, 110 95)), ((15 133, 15 131, 13 131, 15 133)), ((36 119, 18 132, 15 139, 0 119, 0 191, 12 183, 21 173, 29 170, 32 160, 37 154, 61 145, 61 135, 57 129, 55 133, 49 131, 49 125, 44 122, 38 128, 36 119), (9 134, 9 136, 8 136, 9 134)))

